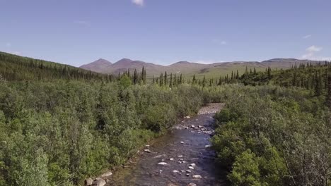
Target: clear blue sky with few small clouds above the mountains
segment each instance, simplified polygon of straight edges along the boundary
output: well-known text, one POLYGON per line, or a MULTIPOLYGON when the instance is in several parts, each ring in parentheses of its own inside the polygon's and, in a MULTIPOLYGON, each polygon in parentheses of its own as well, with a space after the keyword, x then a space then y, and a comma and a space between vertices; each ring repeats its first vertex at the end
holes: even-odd
POLYGON ((81 66, 331 60, 330 0, 0 0, 0 51, 81 66))

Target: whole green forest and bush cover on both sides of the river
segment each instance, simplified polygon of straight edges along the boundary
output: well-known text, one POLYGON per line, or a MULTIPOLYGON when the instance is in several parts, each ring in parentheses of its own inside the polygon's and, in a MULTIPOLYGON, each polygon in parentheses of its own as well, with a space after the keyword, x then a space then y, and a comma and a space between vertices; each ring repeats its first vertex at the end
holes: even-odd
MULTIPOLYGON (((137 71, 139 70, 139 71, 137 71)), ((103 75, 0 53, 0 185, 79 185, 200 106, 231 185, 331 185, 331 64, 211 79, 103 75)))

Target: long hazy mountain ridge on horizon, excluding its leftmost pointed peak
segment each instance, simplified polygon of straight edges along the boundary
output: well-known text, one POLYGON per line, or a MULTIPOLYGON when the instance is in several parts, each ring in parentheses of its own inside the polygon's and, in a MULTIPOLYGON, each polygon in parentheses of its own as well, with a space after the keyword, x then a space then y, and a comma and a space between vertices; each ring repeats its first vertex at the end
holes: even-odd
POLYGON ((137 69, 141 71, 141 68, 144 66, 146 68, 147 77, 153 77, 160 75, 167 71, 168 74, 182 74, 186 77, 191 77, 196 75, 197 77, 219 77, 219 75, 230 75, 232 71, 237 71, 239 73, 244 73, 246 68, 248 70, 254 69, 257 71, 265 70, 270 67, 272 69, 287 69, 291 66, 299 65, 300 63, 318 63, 319 61, 310 61, 310 60, 299 60, 296 58, 273 58, 267 61, 233 61, 233 62, 222 62, 222 63, 213 63, 213 64, 202 64, 202 63, 192 63, 189 61, 179 61, 173 63, 169 66, 161 66, 153 63, 146 63, 144 61, 133 61, 128 58, 123 58, 116 63, 113 63, 109 66, 103 66, 103 68, 86 68, 86 66, 81 66, 81 68, 92 70, 98 73, 108 73, 108 74, 117 74, 123 73, 124 71, 137 69))

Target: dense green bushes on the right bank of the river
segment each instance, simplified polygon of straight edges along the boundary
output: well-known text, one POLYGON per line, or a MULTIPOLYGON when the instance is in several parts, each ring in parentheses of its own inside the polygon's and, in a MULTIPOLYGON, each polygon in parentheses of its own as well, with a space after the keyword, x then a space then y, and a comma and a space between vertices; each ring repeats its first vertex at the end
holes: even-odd
POLYGON ((303 89, 226 87, 212 138, 233 185, 330 185, 330 111, 303 89))

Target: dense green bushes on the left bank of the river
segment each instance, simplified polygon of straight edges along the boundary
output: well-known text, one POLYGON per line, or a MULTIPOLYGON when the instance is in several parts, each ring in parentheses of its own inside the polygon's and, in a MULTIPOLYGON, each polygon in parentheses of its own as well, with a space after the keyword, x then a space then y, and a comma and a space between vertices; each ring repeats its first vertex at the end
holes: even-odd
POLYGON ((119 166, 178 117, 202 90, 118 82, 0 82, 0 185, 77 185, 119 166))

